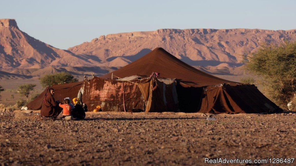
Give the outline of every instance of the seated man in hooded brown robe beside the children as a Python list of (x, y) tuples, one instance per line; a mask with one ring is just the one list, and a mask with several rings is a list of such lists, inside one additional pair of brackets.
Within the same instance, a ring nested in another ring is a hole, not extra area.
[(59, 102), (54, 100), (54, 89), (49, 88), (44, 96), (41, 116), (57, 118), (62, 110), (59, 108)]

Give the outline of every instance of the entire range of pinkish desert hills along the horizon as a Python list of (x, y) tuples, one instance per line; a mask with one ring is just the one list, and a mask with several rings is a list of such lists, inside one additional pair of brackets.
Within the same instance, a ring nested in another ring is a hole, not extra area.
[(244, 52), (255, 51), (264, 42), (296, 41), (296, 30), (160, 29), (103, 35), (61, 50), (22, 32), (14, 19), (0, 19), (0, 36), (2, 78), (26, 78), (59, 71), (75, 75), (94, 72), (100, 76), (157, 47), (202, 71), (243, 75), (241, 55)]

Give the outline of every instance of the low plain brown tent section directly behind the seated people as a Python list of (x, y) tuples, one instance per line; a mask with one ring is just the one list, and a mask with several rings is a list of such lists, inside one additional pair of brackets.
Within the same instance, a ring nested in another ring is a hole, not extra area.
[[(66, 97), (73, 99), (77, 97), (78, 91), (81, 88), (83, 82), (74, 82), (69, 84), (59, 84), (53, 85), (54, 89), (54, 99), (62, 101)], [(48, 88), (46, 88), (39, 96), (36, 97), (33, 101), (27, 104), (29, 110), (40, 110), (42, 107), (42, 102)]]

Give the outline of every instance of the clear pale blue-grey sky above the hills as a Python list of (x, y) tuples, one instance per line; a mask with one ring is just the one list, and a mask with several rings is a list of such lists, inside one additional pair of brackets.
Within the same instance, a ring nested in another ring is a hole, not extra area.
[(14, 18), (30, 36), (67, 49), (121, 32), (163, 28), (296, 29), (293, 0), (0, 0), (1, 18)]

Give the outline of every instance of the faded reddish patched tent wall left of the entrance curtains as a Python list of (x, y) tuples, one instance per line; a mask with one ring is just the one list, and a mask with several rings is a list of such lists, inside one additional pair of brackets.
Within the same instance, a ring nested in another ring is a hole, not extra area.
[(100, 106), (101, 111), (144, 110), (144, 98), (137, 84), (95, 77), (84, 81), (83, 88), (81, 101), (87, 105), (88, 111), (93, 111), (96, 106)]

